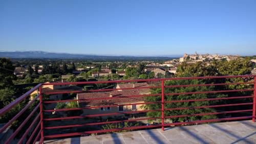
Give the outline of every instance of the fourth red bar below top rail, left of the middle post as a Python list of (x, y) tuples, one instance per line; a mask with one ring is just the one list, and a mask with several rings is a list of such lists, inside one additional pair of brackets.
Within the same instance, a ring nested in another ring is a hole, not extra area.
[(74, 117), (62, 117), (62, 118), (48, 118), (44, 119), (45, 121), (55, 121), (55, 120), (67, 120), (67, 119), (80, 119), (80, 118), (90, 118), (90, 117), (100, 117), (100, 116), (111, 116), (111, 115), (119, 115), (119, 114), (131, 114), (131, 113), (140, 113), (140, 112), (148, 112), (148, 111), (160, 111), (161, 109), (156, 110), (139, 110), (139, 111), (124, 111), (124, 112), (112, 112), (112, 113), (104, 113), (104, 114), (91, 114), (87, 116), (74, 116)]

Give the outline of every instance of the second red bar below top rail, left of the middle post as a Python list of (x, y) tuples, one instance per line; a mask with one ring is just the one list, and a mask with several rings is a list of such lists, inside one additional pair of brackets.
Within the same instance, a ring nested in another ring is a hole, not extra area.
[(153, 96), (160, 96), (160, 95), (161, 94), (148, 94), (148, 95), (137, 95), (137, 96), (118, 96), (118, 97), (106, 97), (106, 98), (79, 99), (79, 100), (57, 100), (57, 101), (45, 101), (44, 103), (71, 102), (71, 101), (84, 101), (84, 100), (118, 99), (118, 98), (134, 98), (134, 97), (153, 97)]

